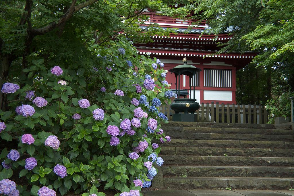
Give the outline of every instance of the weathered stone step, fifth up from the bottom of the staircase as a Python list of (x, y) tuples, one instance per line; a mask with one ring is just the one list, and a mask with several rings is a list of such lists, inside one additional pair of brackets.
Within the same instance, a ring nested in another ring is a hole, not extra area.
[(171, 142), (165, 142), (161, 146), (294, 149), (294, 142), (172, 139)]

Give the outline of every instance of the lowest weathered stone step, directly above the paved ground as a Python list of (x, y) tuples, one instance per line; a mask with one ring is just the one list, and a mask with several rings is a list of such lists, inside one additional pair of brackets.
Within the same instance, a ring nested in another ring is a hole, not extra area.
[(271, 189), (288, 190), (293, 187), (293, 178), (267, 177), (167, 177), (154, 178), (152, 188), (166, 189)]

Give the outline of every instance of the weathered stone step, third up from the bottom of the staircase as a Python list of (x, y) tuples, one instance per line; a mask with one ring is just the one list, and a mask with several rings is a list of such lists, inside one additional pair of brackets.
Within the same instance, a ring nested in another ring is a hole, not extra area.
[(218, 157), (161, 155), (164, 165), (293, 166), (290, 157)]

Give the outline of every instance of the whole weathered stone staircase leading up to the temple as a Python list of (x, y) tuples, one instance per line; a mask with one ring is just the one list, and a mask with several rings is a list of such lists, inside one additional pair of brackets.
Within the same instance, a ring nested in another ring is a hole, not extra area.
[(294, 188), (291, 125), (170, 122), (155, 189)]

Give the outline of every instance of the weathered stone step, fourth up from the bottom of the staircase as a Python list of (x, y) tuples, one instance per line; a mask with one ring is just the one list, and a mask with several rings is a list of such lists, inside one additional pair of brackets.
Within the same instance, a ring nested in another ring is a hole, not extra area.
[(293, 149), (271, 148), (219, 148), (219, 147), (167, 147), (162, 146), (160, 155), (194, 156), (251, 156), (251, 157), (293, 157)]

